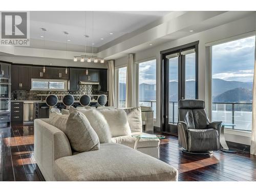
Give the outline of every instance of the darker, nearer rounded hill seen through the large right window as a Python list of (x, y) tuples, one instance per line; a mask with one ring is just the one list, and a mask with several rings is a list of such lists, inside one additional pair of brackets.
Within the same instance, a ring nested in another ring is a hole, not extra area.
[(252, 101), (252, 90), (245, 88), (236, 88), (228, 90), (216, 97), (213, 102), (251, 102)]

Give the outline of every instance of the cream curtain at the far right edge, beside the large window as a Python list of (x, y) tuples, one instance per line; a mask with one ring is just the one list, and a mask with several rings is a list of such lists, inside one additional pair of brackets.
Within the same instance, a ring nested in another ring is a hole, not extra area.
[(250, 153), (256, 155), (256, 38), (255, 38), (255, 53), (254, 53), (254, 75), (252, 89), (252, 127), (251, 127), (251, 148)]

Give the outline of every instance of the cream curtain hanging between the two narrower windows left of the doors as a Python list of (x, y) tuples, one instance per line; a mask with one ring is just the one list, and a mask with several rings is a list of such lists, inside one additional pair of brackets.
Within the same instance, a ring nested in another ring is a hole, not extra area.
[(129, 54), (126, 70), (126, 108), (133, 108), (135, 105), (134, 58), (133, 54)]

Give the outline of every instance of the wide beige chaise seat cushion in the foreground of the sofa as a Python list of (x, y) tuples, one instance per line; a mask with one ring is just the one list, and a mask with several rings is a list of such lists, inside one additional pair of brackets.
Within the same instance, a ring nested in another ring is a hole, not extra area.
[(103, 143), (98, 151), (55, 160), (57, 181), (177, 181), (176, 168), (133, 148)]

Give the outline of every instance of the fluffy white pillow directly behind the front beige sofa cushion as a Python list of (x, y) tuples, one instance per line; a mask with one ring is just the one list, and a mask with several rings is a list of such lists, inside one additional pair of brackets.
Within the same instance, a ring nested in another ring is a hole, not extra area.
[(99, 137), (100, 143), (110, 143), (111, 133), (105, 117), (97, 110), (78, 110), (87, 117), (94, 131)]

